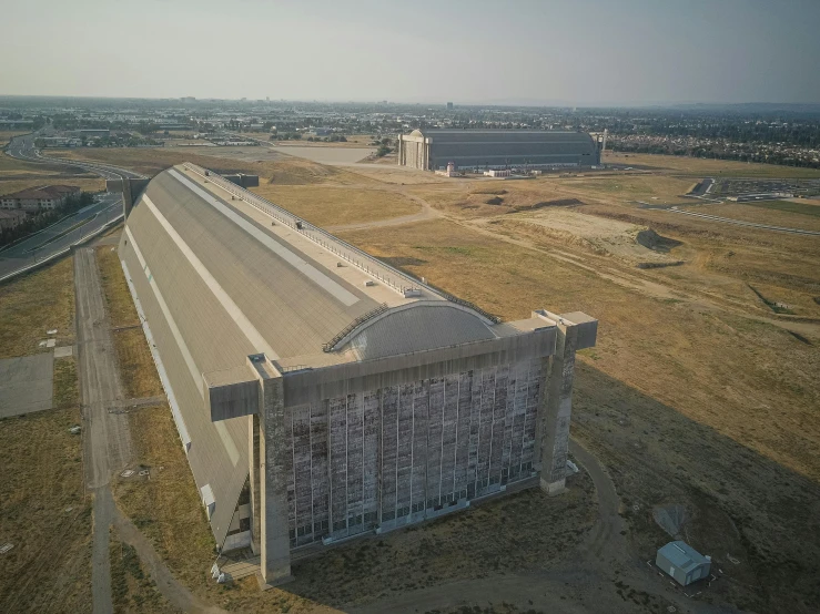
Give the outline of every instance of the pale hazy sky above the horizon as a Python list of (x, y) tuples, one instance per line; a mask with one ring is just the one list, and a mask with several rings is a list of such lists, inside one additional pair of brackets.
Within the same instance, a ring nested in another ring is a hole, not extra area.
[(820, 102), (820, 0), (8, 0), (0, 94)]

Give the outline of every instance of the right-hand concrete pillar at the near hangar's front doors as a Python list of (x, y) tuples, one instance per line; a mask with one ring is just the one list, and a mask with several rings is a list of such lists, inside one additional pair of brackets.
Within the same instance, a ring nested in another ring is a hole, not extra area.
[(538, 423), (540, 487), (547, 494), (557, 494), (565, 488), (575, 350), (578, 341), (577, 326), (560, 323), (557, 328), (555, 354), (548, 359)]

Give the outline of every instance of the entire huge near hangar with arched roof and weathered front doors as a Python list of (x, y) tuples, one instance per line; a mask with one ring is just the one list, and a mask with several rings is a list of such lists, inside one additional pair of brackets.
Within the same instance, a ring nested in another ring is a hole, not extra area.
[(500, 323), (193, 164), (119, 254), (216, 543), (265, 582), (294, 549), (563, 490), (589, 316)]

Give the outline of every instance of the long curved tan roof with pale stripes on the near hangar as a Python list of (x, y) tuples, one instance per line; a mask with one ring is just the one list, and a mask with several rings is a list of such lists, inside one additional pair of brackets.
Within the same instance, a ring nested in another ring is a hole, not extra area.
[[(194, 479), (216, 501), (245, 483), (247, 421), (211, 421), (203, 373), (230, 379), (261, 352), (286, 372), (516, 334), (190, 164), (149, 183), (120, 258)], [(232, 514), (215, 505), (219, 543)]]

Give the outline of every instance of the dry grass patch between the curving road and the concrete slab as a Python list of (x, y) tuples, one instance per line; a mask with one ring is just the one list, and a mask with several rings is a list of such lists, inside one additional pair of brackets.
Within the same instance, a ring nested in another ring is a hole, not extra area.
[(74, 263), (63, 258), (0, 285), (0, 358), (41, 351), (47, 330), (57, 328), (58, 346), (74, 342)]

